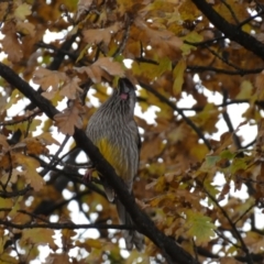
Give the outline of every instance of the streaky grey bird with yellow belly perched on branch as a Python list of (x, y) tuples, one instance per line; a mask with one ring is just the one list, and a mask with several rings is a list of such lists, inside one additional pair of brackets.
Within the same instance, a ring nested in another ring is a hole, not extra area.
[[(141, 138), (134, 120), (136, 96), (135, 87), (128, 78), (120, 78), (117, 89), (90, 117), (86, 134), (99, 148), (103, 157), (122, 177), (130, 194), (138, 173), (140, 161)], [(88, 177), (95, 168), (88, 169)], [(110, 202), (116, 202), (119, 222), (133, 226), (133, 221), (114, 190), (108, 185), (105, 175), (99, 175), (105, 193)], [(123, 230), (127, 250), (135, 245), (138, 251), (144, 249), (144, 237), (136, 230)]]

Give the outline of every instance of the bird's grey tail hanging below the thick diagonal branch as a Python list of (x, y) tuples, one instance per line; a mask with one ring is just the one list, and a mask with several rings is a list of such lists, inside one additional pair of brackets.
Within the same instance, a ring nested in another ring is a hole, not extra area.
[[(122, 224), (133, 226), (133, 221), (130, 215), (127, 212), (124, 206), (117, 199), (117, 209), (119, 215), (119, 221)], [(138, 251), (143, 251), (144, 249), (144, 237), (139, 233), (136, 230), (123, 230), (122, 231), (127, 250), (133, 250), (133, 244)]]

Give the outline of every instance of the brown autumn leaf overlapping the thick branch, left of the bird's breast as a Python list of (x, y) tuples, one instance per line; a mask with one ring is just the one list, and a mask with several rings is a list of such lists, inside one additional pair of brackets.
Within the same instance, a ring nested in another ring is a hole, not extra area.
[(78, 129), (82, 128), (81, 114), (85, 113), (82, 106), (77, 101), (73, 101), (72, 106), (64, 112), (54, 116), (54, 120), (58, 130), (68, 135), (73, 135), (75, 127)]

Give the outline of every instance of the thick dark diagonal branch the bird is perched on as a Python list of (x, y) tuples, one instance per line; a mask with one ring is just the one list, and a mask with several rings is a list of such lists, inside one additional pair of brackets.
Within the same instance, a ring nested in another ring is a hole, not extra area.
[[(0, 63), (0, 75), (12, 86), (16, 87), (24, 96), (26, 96), (35, 106), (37, 106), (46, 116), (51, 119), (58, 113), (51, 102), (37, 94), (28, 82), (21, 79), (12, 69)], [(85, 132), (80, 129), (75, 129), (73, 138), (76, 141), (77, 146), (82, 148), (86, 154), (95, 164), (97, 170), (106, 175), (108, 184), (114, 189), (120, 201), (125, 206), (130, 212), (136, 229), (152, 240), (164, 253), (169, 256), (167, 260), (169, 263), (190, 264), (197, 263), (193, 256), (184, 251), (174, 240), (166, 237), (161, 232), (153, 223), (153, 221), (139, 209), (134, 198), (129, 194), (123, 180), (117, 176), (114, 169), (103, 158), (98, 148), (86, 136)]]

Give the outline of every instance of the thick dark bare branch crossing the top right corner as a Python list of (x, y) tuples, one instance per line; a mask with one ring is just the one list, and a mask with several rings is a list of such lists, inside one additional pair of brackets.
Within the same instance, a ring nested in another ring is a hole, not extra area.
[(208, 20), (221, 31), (228, 38), (242, 45), (256, 56), (264, 59), (264, 45), (252, 35), (242, 31), (238, 25), (230, 24), (205, 0), (193, 0), (196, 7), (208, 18)]

